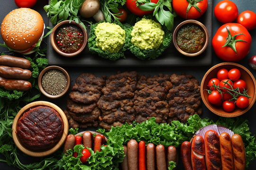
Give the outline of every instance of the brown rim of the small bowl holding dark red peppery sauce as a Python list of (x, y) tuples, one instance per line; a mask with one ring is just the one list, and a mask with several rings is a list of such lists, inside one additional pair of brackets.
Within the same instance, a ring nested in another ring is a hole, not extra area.
[[(73, 53), (65, 53), (63, 51), (61, 51), (58, 46), (57, 46), (57, 42), (55, 41), (55, 36), (57, 34), (57, 31), (58, 31), (58, 28), (60, 26), (63, 26), (63, 25), (75, 25), (75, 26), (78, 26), (82, 29), (82, 33), (84, 34), (84, 41), (83, 41), (83, 44), (82, 44), (82, 47), (76, 51), (76, 52), (73, 52)], [(52, 30), (52, 33), (51, 33), (51, 44), (54, 48), (54, 50), (59, 53), (60, 55), (64, 56), (64, 57), (75, 57), (77, 56), (78, 54), (80, 54), (84, 48), (86, 47), (87, 45), (87, 40), (88, 40), (88, 35), (87, 35), (87, 32), (86, 30), (83, 29), (83, 27), (80, 25), (80, 24), (76, 24), (74, 21), (69, 21), (69, 20), (65, 20), (65, 21), (62, 21), (60, 22), (59, 24), (57, 24), (53, 30)]]

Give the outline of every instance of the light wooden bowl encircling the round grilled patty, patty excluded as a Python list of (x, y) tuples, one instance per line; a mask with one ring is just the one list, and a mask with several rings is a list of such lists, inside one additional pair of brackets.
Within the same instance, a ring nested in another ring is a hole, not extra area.
[[(23, 115), (24, 112), (26, 112), (27, 110), (29, 110), (31, 108), (37, 107), (37, 106), (48, 106), (50, 108), (53, 108), (60, 114), (60, 117), (63, 120), (64, 128), (63, 128), (62, 136), (61, 136), (59, 142), (53, 148), (48, 149), (48, 150), (33, 151), (33, 150), (27, 149), (20, 143), (20, 141), (18, 139), (18, 135), (16, 133), (18, 119)], [(26, 106), (24, 106), (21, 110), (18, 111), (18, 114), (16, 115), (16, 117), (13, 121), (13, 124), (12, 124), (12, 137), (13, 137), (14, 143), (17, 145), (18, 149), (21, 150), (23, 153), (26, 153), (27, 155), (34, 156), (34, 157), (43, 157), (43, 156), (47, 156), (49, 154), (54, 153), (62, 146), (62, 144), (64, 144), (65, 139), (68, 134), (68, 129), (69, 129), (68, 128), (68, 120), (67, 120), (66, 115), (64, 114), (63, 110), (61, 110), (58, 106), (56, 106), (55, 104), (53, 104), (51, 102), (38, 101), (38, 102), (29, 103)]]

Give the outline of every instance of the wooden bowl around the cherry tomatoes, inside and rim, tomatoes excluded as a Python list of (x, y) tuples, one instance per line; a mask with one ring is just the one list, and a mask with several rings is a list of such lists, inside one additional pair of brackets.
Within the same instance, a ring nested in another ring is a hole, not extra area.
[[(232, 68), (237, 68), (241, 72), (240, 79), (243, 79), (246, 82), (247, 90), (248, 90), (247, 94), (251, 97), (249, 98), (249, 106), (247, 108), (239, 109), (238, 107), (236, 107), (234, 111), (226, 112), (222, 109), (222, 107), (217, 107), (208, 101), (209, 94), (206, 89), (209, 89), (209, 88), (207, 84), (211, 78), (217, 78), (217, 72), (221, 68), (226, 68), (227, 70), (230, 70)], [(252, 75), (252, 73), (247, 68), (245, 68), (240, 64), (232, 63), (232, 62), (219, 63), (213, 66), (212, 68), (210, 68), (203, 76), (201, 81), (201, 98), (204, 104), (206, 105), (206, 107), (213, 113), (222, 117), (237, 117), (246, 113), (253, 106), (256, 100), (256, 80)]]

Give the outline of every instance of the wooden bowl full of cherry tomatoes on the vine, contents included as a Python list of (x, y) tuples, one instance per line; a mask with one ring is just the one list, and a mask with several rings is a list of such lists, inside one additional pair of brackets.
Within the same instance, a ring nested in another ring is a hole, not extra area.
[(255, 103), (255, 77), (240, 64), (219, 63), (203, 76), (201, 98), (206, 107), (219, 116), (240, 116)]

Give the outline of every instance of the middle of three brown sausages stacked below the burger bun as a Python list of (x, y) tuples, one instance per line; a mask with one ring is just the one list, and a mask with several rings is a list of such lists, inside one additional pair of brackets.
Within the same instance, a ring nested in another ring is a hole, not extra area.
[(32, 76), (32, 73), (28, 69), (0, 66), (0, 76), (5, 78), (27, 80)]

